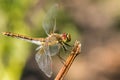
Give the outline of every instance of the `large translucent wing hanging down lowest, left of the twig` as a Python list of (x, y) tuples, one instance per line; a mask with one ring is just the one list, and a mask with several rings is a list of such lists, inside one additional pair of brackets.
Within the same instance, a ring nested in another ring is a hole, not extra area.
[(37, 54), (35, 55), (35, 60), (39, 68), (48, 76), (52, 75), (52, 60), (49, 52), (49, 47), (41, 46)]

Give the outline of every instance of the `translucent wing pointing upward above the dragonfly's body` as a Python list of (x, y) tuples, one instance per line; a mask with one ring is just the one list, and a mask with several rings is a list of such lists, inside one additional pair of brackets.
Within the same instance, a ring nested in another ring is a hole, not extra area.
[(57, 16), (58, 4), (53, 5), (48, 11), (43, 21), (43, 28), (47, 35), (54, 33), (56, 28), (56, 16)]

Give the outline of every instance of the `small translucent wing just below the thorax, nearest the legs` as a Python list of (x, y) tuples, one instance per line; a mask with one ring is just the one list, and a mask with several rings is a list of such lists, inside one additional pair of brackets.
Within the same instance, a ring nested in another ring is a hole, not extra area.
[(49, 50), (50, 50), (50, 55), (51, 55), (51, 56), (56, 55), (57, 53), (59, 53), (60, 44), (57, 43), (57, 44), (54, 44), (54, 45), (50, 45), (50, 46), (49, 46)]

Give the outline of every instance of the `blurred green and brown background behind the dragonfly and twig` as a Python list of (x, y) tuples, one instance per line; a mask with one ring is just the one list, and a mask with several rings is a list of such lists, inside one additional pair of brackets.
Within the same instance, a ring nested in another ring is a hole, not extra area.
[[(57, 33), (70, 33), (82, 52), (65, 80), (120, 80), (119, 0), (0, 0), (0, 32), (46, 37), (42, 21), (55, 3)], [(0, 34), (0, 80), (53, 80), (62, 66), (53, 59), (47, 78), (34, 60), (36, 45)]]

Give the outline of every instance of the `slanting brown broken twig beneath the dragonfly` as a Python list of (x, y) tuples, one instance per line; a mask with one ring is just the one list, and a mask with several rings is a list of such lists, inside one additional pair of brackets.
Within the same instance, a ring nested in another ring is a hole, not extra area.
[(76, 41), (70, 55), (68, 56), (63, 67), (60, 69), (59, 73), (57, 74), (55, 80), (63, 80), (64, 76), (67, 74), (70, 66), (72, 65), (74, 59), (78, 54), (80, 54), (80, 50), (81, 44), (79, 43), (79, 41)]

